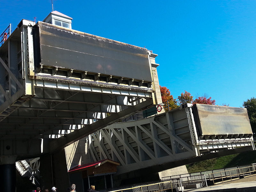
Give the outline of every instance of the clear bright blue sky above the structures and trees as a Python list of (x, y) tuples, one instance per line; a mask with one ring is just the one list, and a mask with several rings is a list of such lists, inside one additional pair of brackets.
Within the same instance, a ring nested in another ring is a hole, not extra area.
[[(159, 3), (161, 2), (161, 3)], [(21, 19), (44, 20), (51, 0), (0, 0), (0, 31)], [(53, 0), (82, 32), (158, 54), (161, 86), (174, 98), (207, 93), (241, 107), (256, 97), (256, 1)]]

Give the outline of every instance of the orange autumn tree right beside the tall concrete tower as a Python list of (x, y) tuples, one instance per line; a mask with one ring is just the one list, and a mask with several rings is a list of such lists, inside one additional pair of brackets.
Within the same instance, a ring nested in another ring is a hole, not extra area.
[[(178, 108), (177, 101), (176, 99), (173, 99), (173, 96), (171, 95), (171, 92), (169, 91), (169, 89), (167, 89), (164, 86), (163, 87), (160, 86), (160, 92), (161, 92), (162, 102), (165, 103), (164, 104), (165, 111), (168, 111), (168, 106), (169, 106), (169, 109)], [(167, 101), (168, 101), (168, 104), (167, 104)]]

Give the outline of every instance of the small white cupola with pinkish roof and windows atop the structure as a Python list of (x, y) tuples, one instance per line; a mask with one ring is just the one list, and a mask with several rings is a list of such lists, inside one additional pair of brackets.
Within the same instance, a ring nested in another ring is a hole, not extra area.
[(50, 12), (43, 22), (71, 29), (71, 20), (71, 17), (68, 17), (67, 15), (64, 15), (58, 11), (53, 11)]

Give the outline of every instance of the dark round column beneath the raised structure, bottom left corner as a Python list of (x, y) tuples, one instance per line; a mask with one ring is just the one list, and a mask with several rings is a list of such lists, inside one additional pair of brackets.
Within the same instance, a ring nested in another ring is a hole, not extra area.
[(0, 157), (0, 184), (2, 190), (15, 192), (16, 188), (16, 156)]

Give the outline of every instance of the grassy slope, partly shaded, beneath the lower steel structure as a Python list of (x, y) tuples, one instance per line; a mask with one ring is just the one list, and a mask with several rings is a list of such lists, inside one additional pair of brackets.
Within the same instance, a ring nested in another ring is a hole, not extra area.
[(189, 173), (192, 173), (212, 169), (234, 167), (237, 165), (245, 165), (251, 163), (256, 163), (256, 151), (237, 153), (233, 155), (204, 160), (193, 164), (188, 164), (187, 169)]

